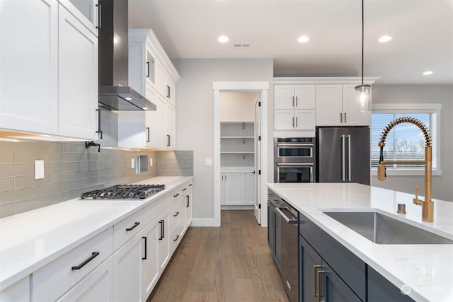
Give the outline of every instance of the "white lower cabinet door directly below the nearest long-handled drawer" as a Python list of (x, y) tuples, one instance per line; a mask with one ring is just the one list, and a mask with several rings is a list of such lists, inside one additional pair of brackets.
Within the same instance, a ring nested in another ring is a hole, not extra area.
[(57, 301), (113, 301), (113, 257), (108, 257), (107, 260), (96, 267), (93, 272), (84, 277), (84, 279)]

